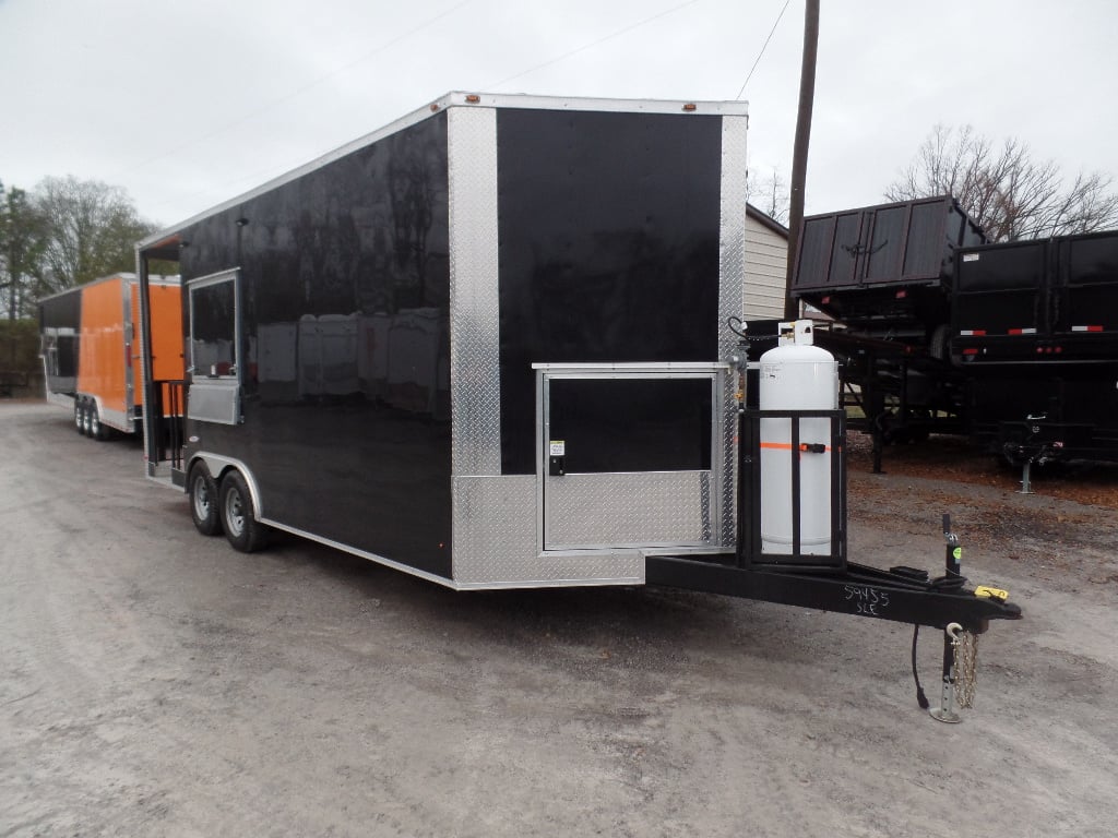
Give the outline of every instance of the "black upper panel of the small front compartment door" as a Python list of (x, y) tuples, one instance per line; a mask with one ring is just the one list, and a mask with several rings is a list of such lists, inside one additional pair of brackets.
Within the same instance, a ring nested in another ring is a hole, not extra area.
[(710, 379), (552, 379), (550, 418), (567, 474), (710, 468)]

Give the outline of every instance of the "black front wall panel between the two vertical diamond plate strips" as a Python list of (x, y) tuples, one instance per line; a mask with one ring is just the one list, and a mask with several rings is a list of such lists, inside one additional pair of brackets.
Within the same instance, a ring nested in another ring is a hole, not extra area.
[[(532, 363), (718, 360), (722, 120), (510, 108), (496, 125), (502, 473), (534, 474)], [(665, 410), (654, 388), (585, 396), (595, 421), (625, 417), (631, 440), (709, 450), (709, 431), (703, 440), (695, 417)], [(615, 454), (625, 461), (598, 468), (662, 467)]]

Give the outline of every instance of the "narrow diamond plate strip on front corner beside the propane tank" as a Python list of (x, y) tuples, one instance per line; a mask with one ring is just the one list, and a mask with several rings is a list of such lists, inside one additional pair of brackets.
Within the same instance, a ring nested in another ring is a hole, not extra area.
[[(737, 349), (737, 336), (724, 326), (730, 317), (743, 312), (746, 278), (746, 116), (722, 117), (722, 197), (719, 231), (719, 358), (730, 358)], [(733, 387), (722, 388), (724, 407), (722, 431), (722, 546), (737, 542), (737, 401)]]

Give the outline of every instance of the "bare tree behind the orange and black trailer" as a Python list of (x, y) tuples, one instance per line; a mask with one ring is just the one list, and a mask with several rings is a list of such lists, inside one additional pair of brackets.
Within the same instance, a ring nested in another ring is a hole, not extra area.
[(135, 269), (135, 242), (155, 229), (123, 189), (101, 181), (47, 178), (35, 203), (47, 226), (45, 292)]

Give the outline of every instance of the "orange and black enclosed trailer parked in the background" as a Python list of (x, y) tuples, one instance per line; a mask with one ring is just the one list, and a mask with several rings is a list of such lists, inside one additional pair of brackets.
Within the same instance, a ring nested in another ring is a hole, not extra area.
[[(135, 434), (143, 418), (140, 292), (134, 274), (113, 274), (39, 301), (47, 401), (74, 412), (78, 432)], [(178, 277), (153, 277), (153, 362), (161, 380), (183, 377)]]

